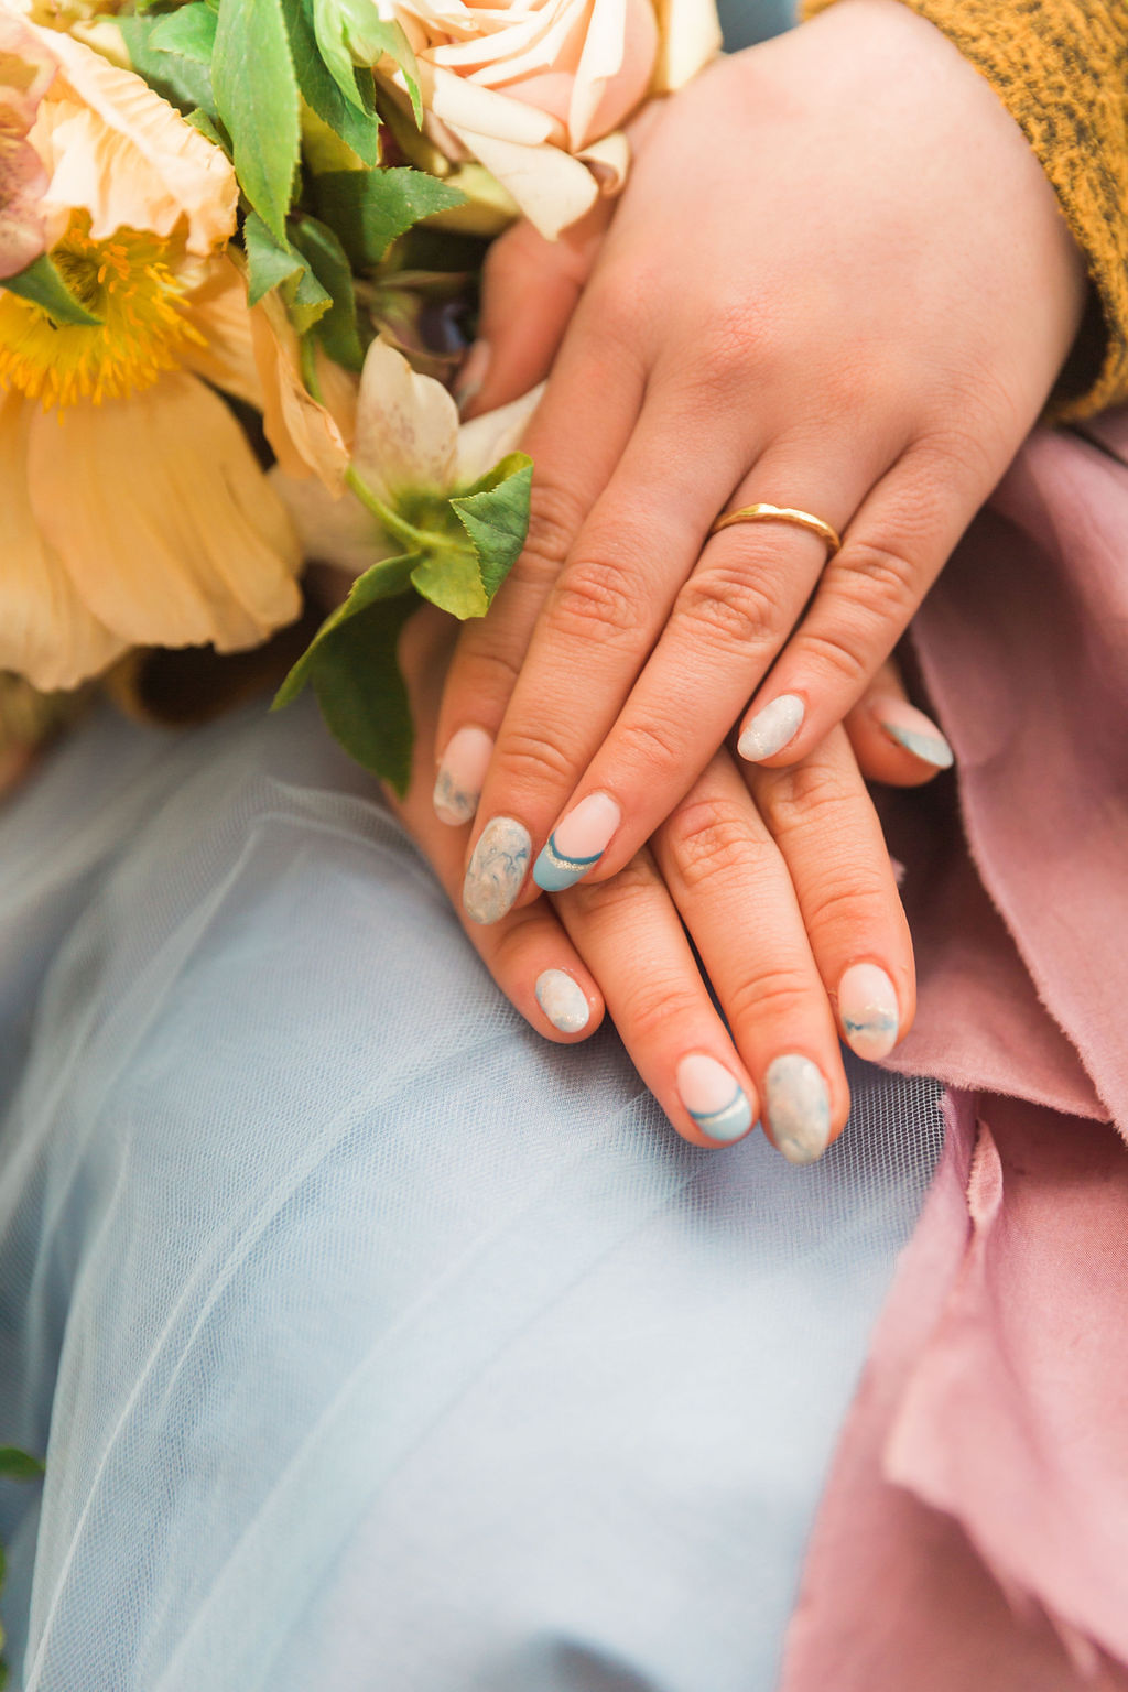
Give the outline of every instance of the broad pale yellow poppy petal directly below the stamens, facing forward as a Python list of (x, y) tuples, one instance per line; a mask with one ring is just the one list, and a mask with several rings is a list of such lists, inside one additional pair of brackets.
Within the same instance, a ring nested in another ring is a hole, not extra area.
[(30, 423), (27, 484), (79, 597), (129, 645), (254, 646), (301, 552), (238, 423), (194, 376)]

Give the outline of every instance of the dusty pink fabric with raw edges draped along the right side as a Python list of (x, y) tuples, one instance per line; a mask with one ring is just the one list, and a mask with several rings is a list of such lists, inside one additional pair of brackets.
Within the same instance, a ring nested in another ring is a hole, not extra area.
[[(1038, 433), (917, 646), (959, 770), (891, 817), (949, 1140), (783, 1692), (1128, 1687), (1128, 413)], [(1120, 1132), (1118, 1132), (1120, 1130)]]

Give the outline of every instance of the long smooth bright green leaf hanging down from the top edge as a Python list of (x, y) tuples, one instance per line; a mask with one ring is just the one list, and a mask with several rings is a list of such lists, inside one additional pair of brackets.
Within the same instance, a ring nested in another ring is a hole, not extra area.
[(240, 186), (271, 233), (286, 240), (301, 117), (282, 0), (222, 0), (211, 81)]

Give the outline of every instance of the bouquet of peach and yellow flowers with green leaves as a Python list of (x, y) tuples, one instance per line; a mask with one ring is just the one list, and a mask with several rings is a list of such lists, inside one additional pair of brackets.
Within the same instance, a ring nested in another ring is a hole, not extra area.
[[(0, 0), (0, 672), (260, 645), (402, 787), (396, 641), (521, 552), (531, 399), (460, 425), (487, 242), (614, 193), (712, 0)], [(533, 398), (533, 396), (531, 396)]]

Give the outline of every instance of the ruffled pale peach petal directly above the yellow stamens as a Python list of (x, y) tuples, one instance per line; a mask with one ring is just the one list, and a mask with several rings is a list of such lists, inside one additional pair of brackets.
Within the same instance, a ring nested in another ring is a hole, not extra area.
[(223, 152), (140, 76), (69, 36), (36, 34), (47, 39), (74, 95), (42, 105), (32, 130), (52, 173), (47, 205), (88, 210), (95, 240), (122, 227), (169, 235), (184, 218), (189, 252), (222, 245), (238, 206)]

